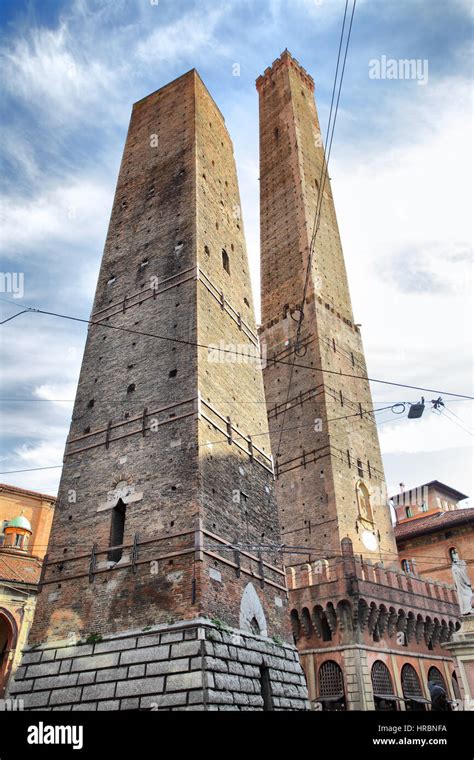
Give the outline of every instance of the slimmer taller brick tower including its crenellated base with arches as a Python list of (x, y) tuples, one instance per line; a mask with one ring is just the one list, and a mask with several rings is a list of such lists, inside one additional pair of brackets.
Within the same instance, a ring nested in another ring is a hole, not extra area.
[(331, 184), (321, 181), (314, 82), (285, 51), (257, 89), (264, 383), (282, 538), (293, 549), (291, 619), (310, 697), (326, 710), (424, 709), (429, 680), (456, 695), (443, 649), (456, 626), (454, 593), (395, 570), (362, 340)]

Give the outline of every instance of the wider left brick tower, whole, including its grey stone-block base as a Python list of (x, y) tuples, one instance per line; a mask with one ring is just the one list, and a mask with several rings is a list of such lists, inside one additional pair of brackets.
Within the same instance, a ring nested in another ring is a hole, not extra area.
[(12, 693), (305, 709), (232, 143), (194, 70), (134, 105), (91, 319)]

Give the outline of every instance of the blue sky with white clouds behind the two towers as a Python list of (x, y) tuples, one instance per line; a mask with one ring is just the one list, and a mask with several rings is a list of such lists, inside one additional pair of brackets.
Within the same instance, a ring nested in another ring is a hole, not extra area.
[[(234, 141), (258, 299), (255, 79), (288, 48), (316, 80), (324, 130), (343, 9), (343, 0), (3, 0), (1, 270), (24, 273), (24, 293), (2, 285), (15, 306), (0, 301), (1, 318), (22, 304), (89, 316), (131, 104), (193, 67)], [(470, 0), (358, 0), (330, 164), (370, 375), (468, 395), (471, 24)], [(371, 78), (382, 56), (417, 59), (423, 81)], [(0, 481), (55, 493), (59, 468), (11, 471), (61, 464), (85, 329), (25, 314), (1, 330)], [(372, 389), (376, 406), (419, 396)], [(443, 415), (378, 415), (390, 491), (439, 479), (472, 493), (472, 404), (443, 398)]]

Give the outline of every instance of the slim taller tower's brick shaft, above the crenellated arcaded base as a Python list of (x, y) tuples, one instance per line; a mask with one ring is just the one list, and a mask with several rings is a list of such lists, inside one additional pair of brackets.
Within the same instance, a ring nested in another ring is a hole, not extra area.
[[(349, 537), (356, 552), (393, 562), (397, 550), (369, 384), (350, 377), (367, 371), (329, 178), (323, 187), (314, 82), (285, 51), (259, 77), (257, 89), (261, 339), (269, 359), (264, 382), (282, 533), (291, 546), (315, 547), (315, 556), (340, 552)], [(293, 361), (314, 370), (296, 366), (292, 372)]]

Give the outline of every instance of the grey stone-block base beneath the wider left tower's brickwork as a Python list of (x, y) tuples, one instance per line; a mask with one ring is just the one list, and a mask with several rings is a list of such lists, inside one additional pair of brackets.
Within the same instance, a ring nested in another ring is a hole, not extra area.
[(263, 680), (274, 710), (309, 709), (295, 647), (199, 618), (29, 649), (9, 696), (25, 710), (263, 710)]

